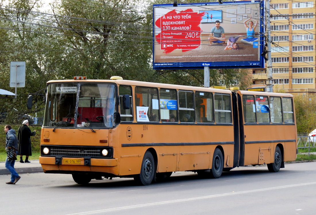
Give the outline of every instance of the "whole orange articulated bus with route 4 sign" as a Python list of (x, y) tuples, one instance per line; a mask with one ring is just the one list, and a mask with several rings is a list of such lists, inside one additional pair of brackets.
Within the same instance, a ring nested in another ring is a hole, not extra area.
[(79, 184), (218, 178), (261, 164), (277, 172), (296, 159), (296, 137), (290, 94), (76, 77), (47, 82), (40, 164)]

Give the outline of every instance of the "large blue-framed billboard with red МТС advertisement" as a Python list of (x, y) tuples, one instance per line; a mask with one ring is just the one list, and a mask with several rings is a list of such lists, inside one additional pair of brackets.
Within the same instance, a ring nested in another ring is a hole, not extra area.
[(264, 68), (263, 4), (153, 5), (153, 68)]

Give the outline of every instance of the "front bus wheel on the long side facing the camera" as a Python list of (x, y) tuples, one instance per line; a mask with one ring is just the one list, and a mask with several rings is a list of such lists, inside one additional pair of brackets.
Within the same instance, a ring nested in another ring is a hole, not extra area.
[(134, 177), (134, 180), (139, 185), (149, 185), (155, 176), (155, 160), (153, 155), (146, 151), (142, 161), (140, 173)]

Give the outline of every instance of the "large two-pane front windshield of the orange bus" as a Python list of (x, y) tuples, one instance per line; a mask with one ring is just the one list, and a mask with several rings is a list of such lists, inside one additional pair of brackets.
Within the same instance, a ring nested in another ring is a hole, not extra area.
[(49, 84), (43, 126), (112, 128), (115, 89), (106, 83)]

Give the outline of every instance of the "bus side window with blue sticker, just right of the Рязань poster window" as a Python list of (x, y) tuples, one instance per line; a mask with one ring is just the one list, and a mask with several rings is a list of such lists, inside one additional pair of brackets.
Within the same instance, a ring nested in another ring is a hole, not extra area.
[(177, 90), (160, 89), (159, 105), (161, 122), (178, 122)]

